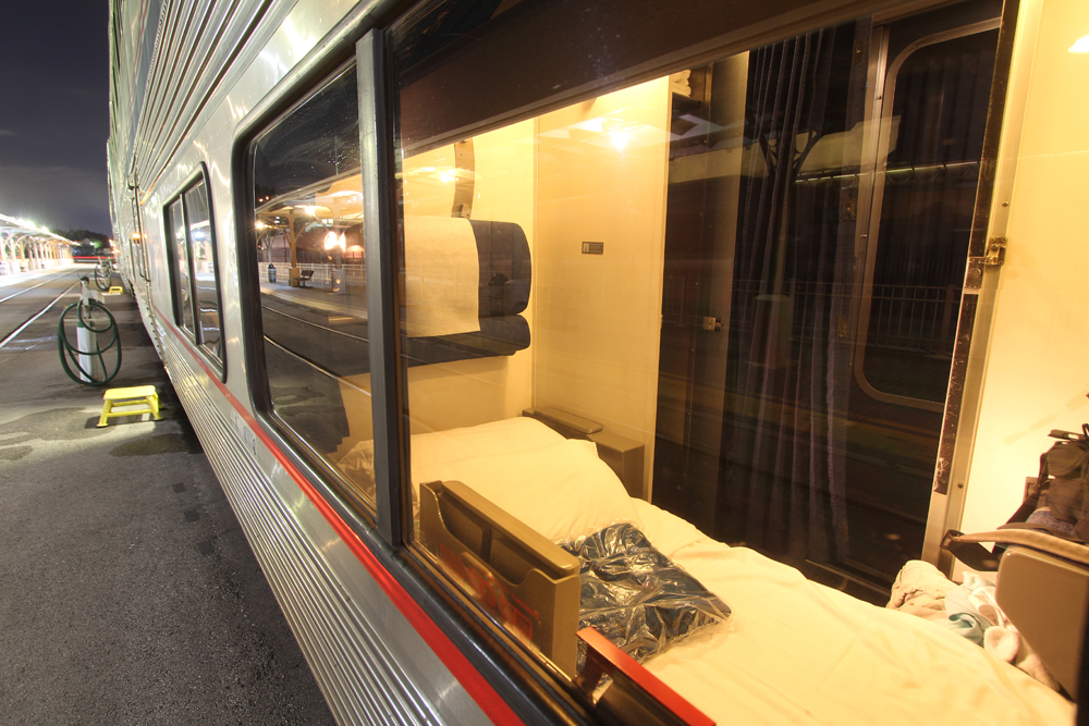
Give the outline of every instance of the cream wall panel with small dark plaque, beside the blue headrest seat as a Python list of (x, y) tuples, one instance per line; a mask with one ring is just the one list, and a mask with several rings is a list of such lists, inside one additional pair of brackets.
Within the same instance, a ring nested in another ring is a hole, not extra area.
[[(653, 463), (669, 78), (546, 114), (538, 136), (535, 404), (600, 421)], [(584, 255), (583, 242), (604, 243)]]

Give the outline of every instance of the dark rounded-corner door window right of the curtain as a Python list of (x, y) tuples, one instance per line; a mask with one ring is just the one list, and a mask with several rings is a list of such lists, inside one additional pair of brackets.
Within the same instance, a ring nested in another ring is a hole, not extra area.
[(885, 89), (859, 382), (934, 410), (949, 385), (996, 45), (989, 30), (905, 51)]

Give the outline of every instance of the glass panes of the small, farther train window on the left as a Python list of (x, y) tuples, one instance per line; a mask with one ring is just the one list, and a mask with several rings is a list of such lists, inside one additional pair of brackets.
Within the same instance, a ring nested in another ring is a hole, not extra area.
[(174, 322), (218, 366), (223, 361), (219, 269), (204, 174), (166, 209)]

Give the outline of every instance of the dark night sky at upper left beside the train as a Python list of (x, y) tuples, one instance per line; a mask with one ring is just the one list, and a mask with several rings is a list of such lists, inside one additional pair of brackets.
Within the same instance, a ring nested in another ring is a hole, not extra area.
[(107, 0), (4, 5), (0, 213), (112, 234)]

